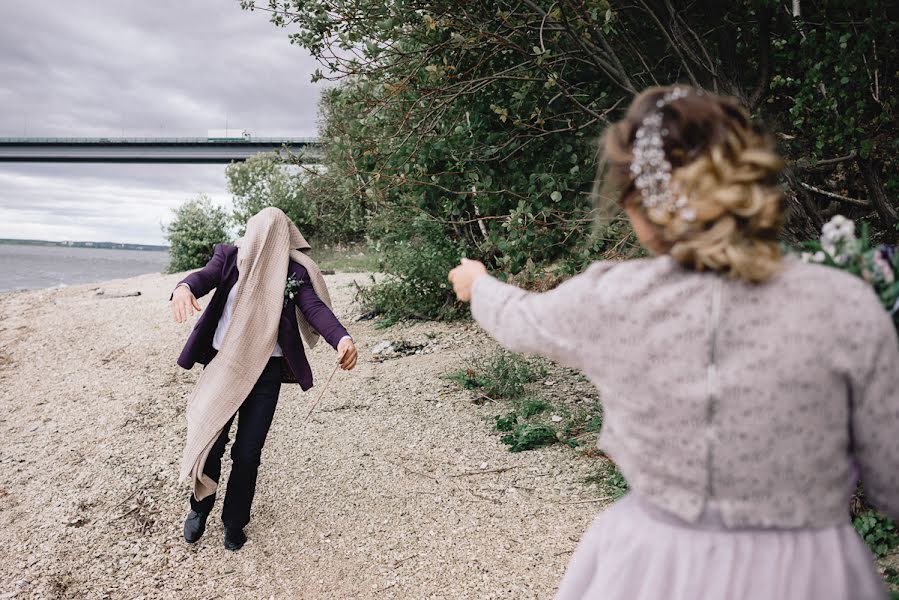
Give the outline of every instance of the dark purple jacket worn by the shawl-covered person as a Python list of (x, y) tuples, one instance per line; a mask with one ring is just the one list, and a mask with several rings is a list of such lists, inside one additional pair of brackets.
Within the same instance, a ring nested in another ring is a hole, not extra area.
[[(305, 391), (312, 387), (312, 369), (309, 367), (309, 361), (306, 360), (306, 353), (303, 350), (294, 303), (302, 311), (309, 325), (319, 332), (335, 350), (340, 340), (349, 334), (331, 309), (312, 289), (312, 284), (308, 283), (309, 278), (305, 267), (290, 261), (287, 273), (288, 275), (293, 273), (297, 279), (307, 283), (300, 286), (294, 299), (288, 302), (281, 312), (278, 344), (284, 352), (281, 369), (282, 380), (285, 383), (299, 383)], [(225, 310), (228, 293), (237, 283), (237, 275), (237, 247), (231, 244), (219, 244), (215, 247), (215, 253), (205, 267), (191, 273), (179, 282), (189, 285), (197, 298), (201, 298), (215, 289), (212, 300), (200, 315), (200, 319), (187, 339), (187, 344), (184, 345), (184, 350), (178, 357), (178, 364), (185, 369), (192, 368), (196, 363), (208, 364), (215, 356), (216, 351), (212, 347), (212, 338)]]

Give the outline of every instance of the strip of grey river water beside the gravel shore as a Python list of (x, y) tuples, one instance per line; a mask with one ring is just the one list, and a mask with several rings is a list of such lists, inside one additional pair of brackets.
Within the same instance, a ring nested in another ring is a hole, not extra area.
[(160, 273), (168, 252), (0, 244), (0, 292)]

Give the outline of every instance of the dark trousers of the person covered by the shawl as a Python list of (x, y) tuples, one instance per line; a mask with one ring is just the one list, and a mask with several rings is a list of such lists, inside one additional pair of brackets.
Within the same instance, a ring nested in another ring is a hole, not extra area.
[[(222, 522), (225, 527), (243, 528), (250, 522), (250, 507), (256, 493), (256, 474), (262, 458), (262, 446), (275, 416), (278, 394), (281, 391), (281, 359), (268, 361), (256, 385), (237, 411), (237, 434), (231, 446), (231, 476), (225, 492), (222, 507)], [(228, 433), (234, 417), (222, 429), (213, 444), (203, 467), (203, 473), (218, 482), (222, 473), (222, 455), (228, 443)], [(190, 496), (193, 510), (208, 513), (215, 504), (215, 494), (202, 500)]]

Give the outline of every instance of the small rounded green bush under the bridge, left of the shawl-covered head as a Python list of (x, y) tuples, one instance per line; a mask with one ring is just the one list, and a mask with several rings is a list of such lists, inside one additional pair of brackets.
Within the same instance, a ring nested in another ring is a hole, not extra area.
[(216, 244), (229, 240), (228, 214), (220, 206), (200, 195), (174, 210), (175, 218), (163, 226), (169, 242), (168, 273), (179, 273), (204, 266)]

